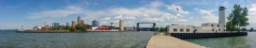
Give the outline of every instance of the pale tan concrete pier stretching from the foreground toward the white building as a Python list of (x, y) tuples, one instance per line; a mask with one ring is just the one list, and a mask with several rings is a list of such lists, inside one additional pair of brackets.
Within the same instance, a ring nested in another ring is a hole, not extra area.
[(146, 48), (207, 48), (202, 45), (196, 45), (185, 40), (180, 40), (171, 35), (158, 33), (151, 37)]

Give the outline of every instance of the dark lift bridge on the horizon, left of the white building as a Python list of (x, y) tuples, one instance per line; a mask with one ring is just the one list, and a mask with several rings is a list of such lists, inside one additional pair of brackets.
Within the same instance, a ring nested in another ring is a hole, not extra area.
[[(153, 24), (152, 28), (140, 28), (140, 24)], [(137, 31), (156, 31), (155, 23), (137, 23)]]

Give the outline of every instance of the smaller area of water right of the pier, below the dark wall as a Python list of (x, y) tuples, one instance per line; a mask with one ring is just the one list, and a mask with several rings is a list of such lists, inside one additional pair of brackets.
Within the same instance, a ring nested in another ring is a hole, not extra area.
[(205, 45), (208, 48), (256, 48), (256, 32), (248, 33), (247, 36), (191, 39), (188, 41)]

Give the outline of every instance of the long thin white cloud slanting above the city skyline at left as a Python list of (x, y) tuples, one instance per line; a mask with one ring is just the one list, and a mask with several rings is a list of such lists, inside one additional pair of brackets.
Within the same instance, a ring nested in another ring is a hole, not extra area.
[(82, 8), (67, 6), (67, 8), (55, 9), (55, 10), (44, 10), (39, 13), (29, 14), (29, 19), (42, 19), (42, 18), (63, 18), (74, 13), (82, 13)]

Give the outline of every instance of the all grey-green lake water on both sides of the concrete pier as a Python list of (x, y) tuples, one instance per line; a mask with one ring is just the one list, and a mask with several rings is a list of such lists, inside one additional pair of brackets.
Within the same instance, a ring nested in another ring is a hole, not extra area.
[[(0, 48), (143, 48), (153, 32), (15, 33), (0, 30)], [(256, 32), (247, 36), (190, 39), (208, 48), (256, 48)]]

